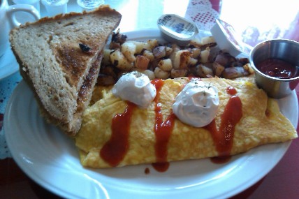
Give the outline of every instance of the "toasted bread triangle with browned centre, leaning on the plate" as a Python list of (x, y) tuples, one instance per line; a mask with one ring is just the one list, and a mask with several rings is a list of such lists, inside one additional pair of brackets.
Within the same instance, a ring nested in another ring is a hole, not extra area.
[(10, 31), (20, 73), (42, 115), (69, 134), (81, 126), (99, 75), (102, 52), (122, 15), (109, 6), (45, 17)]

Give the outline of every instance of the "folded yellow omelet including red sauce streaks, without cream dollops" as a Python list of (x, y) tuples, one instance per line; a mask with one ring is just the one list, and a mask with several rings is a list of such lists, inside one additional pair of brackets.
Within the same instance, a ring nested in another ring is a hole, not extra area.
[(112, 168), (232, 156), (297, 138), (277, 101), (256, 87), (253, 75), (202, 80), (217, 87), (219, 108), (211, 124), (201, 128), (182, 123), (172, 112), (189, 78), (160, 80), (159, 94), (147, 109), (115, 97), (112, 87), (96, 87), (75, 137), (82, 165)]

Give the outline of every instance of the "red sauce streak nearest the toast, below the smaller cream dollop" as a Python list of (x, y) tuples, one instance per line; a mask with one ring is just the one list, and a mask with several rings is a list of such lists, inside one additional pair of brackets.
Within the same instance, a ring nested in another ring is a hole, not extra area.
[(103, 145), (100, 156), (110, 166), (115, 167), (124, 159), (129, 149), (129, 132), (131, 117), (136, 105), (129, 101), (126, 102), (124, 113), (117, 114), (112, 119), (110, 140)]

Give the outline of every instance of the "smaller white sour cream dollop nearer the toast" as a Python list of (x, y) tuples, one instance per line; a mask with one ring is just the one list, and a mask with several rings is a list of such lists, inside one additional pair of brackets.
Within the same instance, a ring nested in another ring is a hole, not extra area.
[(156, 87), (147, 75), (133, 71), (122, 75), (112, 89), (112, 94), (122, 100), (147, 108), (156, 96)]

